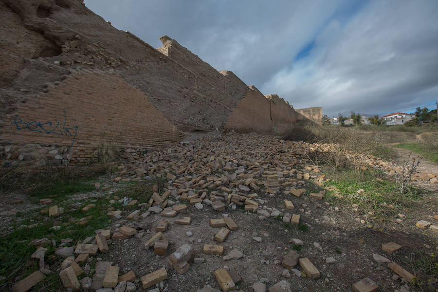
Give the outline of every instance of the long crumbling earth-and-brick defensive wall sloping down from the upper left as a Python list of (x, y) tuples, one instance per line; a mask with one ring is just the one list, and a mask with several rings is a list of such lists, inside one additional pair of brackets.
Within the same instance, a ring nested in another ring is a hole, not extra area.
[[(0, 166), (84, 164), (184, 132), (282, 134), (293, 108), (170, 37), (155, 49), (81, 0), (0, 0)], [(4, 170), (4, 169), (3, 169)]]

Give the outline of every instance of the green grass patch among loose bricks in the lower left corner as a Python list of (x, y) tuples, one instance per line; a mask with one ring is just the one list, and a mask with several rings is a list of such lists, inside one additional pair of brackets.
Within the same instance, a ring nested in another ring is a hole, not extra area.
[[(67, 187), (64, 195), (74, 193), (73, 190), (84, 191), (89, 189), (85, 184), (73, 184)], [(94, 187), (93, 187), (94, 189)], [(41, 193), (40, 193), (41, 194)], [(45, 193), (47, 194), (47, 193)], [(65, 196), (64, 196), (65, 197)], [(56, 199), (59, 196), (56, 197)], [(83, 241), (86, 237), (94, 236), (94, 231), (101, 228), (106, 228), (110, 224), (110, 218), (107, 216), (107, 208), (115, 207), (122, 209), (121, 204), (110, 204), (107, 198), (92, 198), (81, 201), (77, 204), (74, 201), (59, 201), (58, 206), (64, 208), (64, 213), (58, 218), (49, 218), (40, 214), (39, 210), (34, 210), (28, 213), (20, 214), (19, 217), (25, 218), (19, 223), (13, 225), (14, 229), (0, 237), (0, 275), (6, 277), (0, 284), (14, 282), (18, 276), (24, 278), (29, 274), (38, 270), (38, 261), (31, 259), (31, 255), (37, 250), (37, 247), (29, 243), (37, 238), (47, 238), (49, 242), (43, 247), (48, 248), (45, 255), (45, 261), (51, 268), (56, 267), (56, 264), (62, 261), (61, 258), (51, 256), (55, 253), (55, 248), (52, 245), (52, 240), (55, 240), (58, 246), (63, 238), (72, 238), (73, 242), (70, 246), (74, 246), (76, 242)], [(96, 206), (88, 211), (81, 211), (81, 209), (93, 203)], [(74, 208), (73, 208), (74, 206)], [(42, 207), (45, 209), (47, 206)], [(79, 224), (81, 219), (87, 220), (86, 224)], [(55, 220), (61, 221), (59, 230), (52, 229)], [(19, 228), (20, 225), (30, 225), (38, 223), (33, 228)], [(41, 283), (39, 283), (35, 291), (58, 291), (61, 287), (59, 275), (47, 276)]]

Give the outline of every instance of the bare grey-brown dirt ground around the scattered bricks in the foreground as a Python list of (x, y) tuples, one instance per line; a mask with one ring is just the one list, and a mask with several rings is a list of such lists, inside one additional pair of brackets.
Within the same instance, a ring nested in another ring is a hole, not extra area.
[[(208, 139), (211, 139), (212, 143), (217, 143), (217, 137), (208, 137)], [(187, 139), (187, 141), (194, 140)], [(396, 149), (396, 151), (402, 158), (409, 155), (404, 149)], [(424, 159), (421, 161), (419, 170), (438, 174), (438, 167)], [(310, 172), (310, 179), (319, 175)], [(102, 179), (111, 184), (112, 178)], [(117, 185), (114, 185), (115, 188), (110, 192), (94, 191), (88, 194), (76, 194), (74, 199), (86, 203), (90, 198), (99, 194), (111, 198), (113, 196), (111, 194), (117, 188)], [(323, 190), (323, 187), (314, 184), (311, 180), (301, 186), (312, 192)], [(438, 224), (438, 220), (433, 218), (433, 215), (438, 213), (438, 192), (436, 184), (422, 182), (420, 186), (426, 189), (427, 195), (414, 203), (412, 210), (403, 210), (405, 218), (389, 218), (385, 221), (375, 221), (367, 214), (355, 212), (351, 205), (345, 203), (316, 200), (307, 193), (301, 197), (295, 197), (289, 193), (286, 194), (282, 189), (276, 194), (269, 194), (262, 190), (257, 192), (259, 209), (270, 213), (278, 210), (281, 212), (279, 217), (265, 218), (256, 213), (244, 211), (240, 206), (237, 206), (235, 210), (227, 207), (223, 212), (218, 212), (203, 204), (203, 209), (197, 210), (188, 203), (188, 209), (174, 218), (164, 218), (160, 214), (152, 213), (144, 219), (132, 221), (123, 216), (121, 219), (111, 220), (111, 231), (126, 224), (136, 228), (138, 235), (128, 239), (109, 240), (110, 251), (106, 254), (99, 254), (94, 259), (98, 257), (97, 260), (114, 262), (114, 265), (120, 267), (120, 274), (133, 271), (137, 279), (136, 291), (152, 291), (153, 289), (158, 289), (154, 291), (198, 291), (205, 285), (211, 285), (220, 290), (213, 273), (224, 267), (234, 269), (240, 275), (242, 282), (236, 285), (237, 289), (247, 292), (253, 291), (253, 284), (257, 281), (265, 282), (268, 289), (281, 280), (287, 280), (291, 284), (291, 291), (347, 292), (352, 291), (352, 284), (365, 277), (375, 281), (380, 287), (379, 291), (436, 291), (438, 275), (425, 276), (423, 271), (425, 264), (419, 262), (421, 261), (419, 255), (437, 254), (437, 234), (427, 229), (420, 229), (415, 226), (415, 223), (425, 219), (432, 224)], [(17, 198), (23, 199), (25, 203), (19, 207), (8, 203)], [(33, 210), (40, 207), (30, 203), (31, 200), (22, 194), (2, 194), (0, 212), (11, 209)], [(294, 209), (286, 210), (284, 200), (291, 200)], [(142, 208), (142, 212), (146, 210), (147, 208)], [(284, 223), (281, 216), (285, 212), (299, 214), (300, 224)], [(191, 217), (190, 225), (174, 223), (176, 219), (185, 216)], [(219, 243), (214, 240), (219, 228), (211, 227), (209, 220), (224, 216), (232, 218), (237, 223), (238, 229), (232, 230), (226, 240)], [(9, 223), (16, 221), (16, 218), (11, 216), (2, 216), (1, 219), (2, 232), (9, 229)], [(155, 256), (153, 249), (144, 248), (144, 243), (155, 234), (155, 227), (162, 219), (170, 223), (170, 227), (164, 232), (164, 237), (169, 241), (169, 248), (166, 256)], [(361, 222), (361, 220), (364, 221)], [(369, 224), (372, 224), (374, 228), (370, 228)], [(186, 232), (191, 232), (193, 235), (188, 236)], [(261, 237), (261, 242), (257, 242), (253, 237)], [(302, 246), (296, 245), (292, 239), (301, 240)], [(391, 241), (402, 246), (401, 250), (392, 255), (382, 250), (382, 244)], [(193, 247), (194, 257), (201, 257), (205, 261), (203, 263), (189, 262), (190, 269), (185, 274), (178, 274), (168, 262), (169, 255), (185, 243)], [(223, 255), (203, 254), (204, 244), (223, 244)], [(223, 256), (233, 249), (239, 250), (244, 256), (239, 259), (224, 260)], [(295, 267), (301, 272), (299, 276), (292, 271), (283, 274), (285, 268), (281, 266), (281, 261), (292, 249), (295, 249), (300, 257), (308, 257), (321, 276), (314, 279), (305, 276), (299, 264)], [(386, 263), (373, 260), (373, 254), (382, 255), (400, 264), (410, 273), (418, 275), (422, 285), (407, 283), (389, 269)], [(329, 257), (333, 257), (335, 262), (327, 263), (326, 258)], [(51, 267), (55, 273), (60, 271), (59, 264), (60, 261)], [(140, 277), (162, 267), (166, 268), (168, 274), (164, 285), (160, 287), (157, 284), (143, 290)]]

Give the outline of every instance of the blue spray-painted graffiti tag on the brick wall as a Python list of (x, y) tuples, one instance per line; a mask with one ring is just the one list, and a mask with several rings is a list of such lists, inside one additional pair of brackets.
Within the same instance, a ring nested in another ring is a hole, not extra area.
[(18, 117), (18, 115), (15, 116), (14, 122), (11, 125), (14, 125), (18, 130), (29, 130), (31, 132), (40, 132), (47, 135), (60, 135), (60, 136), (67, 136), (67, 137), (73, 137), (72, 146), (74, 143), (74, 139), (76, 138), (77, 130), (79, 127), (67, 127), (67, 115), (64, 110), (64, 123), (62, 126), (59, 122), (56, 124), (52, 122), (38, 122), (38, 121), (24, 121), (21, 118)]

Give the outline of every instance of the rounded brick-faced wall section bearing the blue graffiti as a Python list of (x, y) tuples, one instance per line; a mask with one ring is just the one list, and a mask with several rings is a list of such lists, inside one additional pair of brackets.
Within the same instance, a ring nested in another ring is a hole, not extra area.
[[(117, 75), (99, 72), (74, 73), (48, 87), (47, 93), (29, 96), (14, 113), (3, 117), (0, 126), (1, 144), (8, 149), (23, 143), (70, 148), (46, 153), (39, 158), (39, 166), (96, 160), (96, 149), (104, 144), (150, 148), (184, 137), (149, 103), (145, 93)], [(20, 151), (20, 147), (13, 148)], [(8, 152), (9, 159), (22, 154)]]

